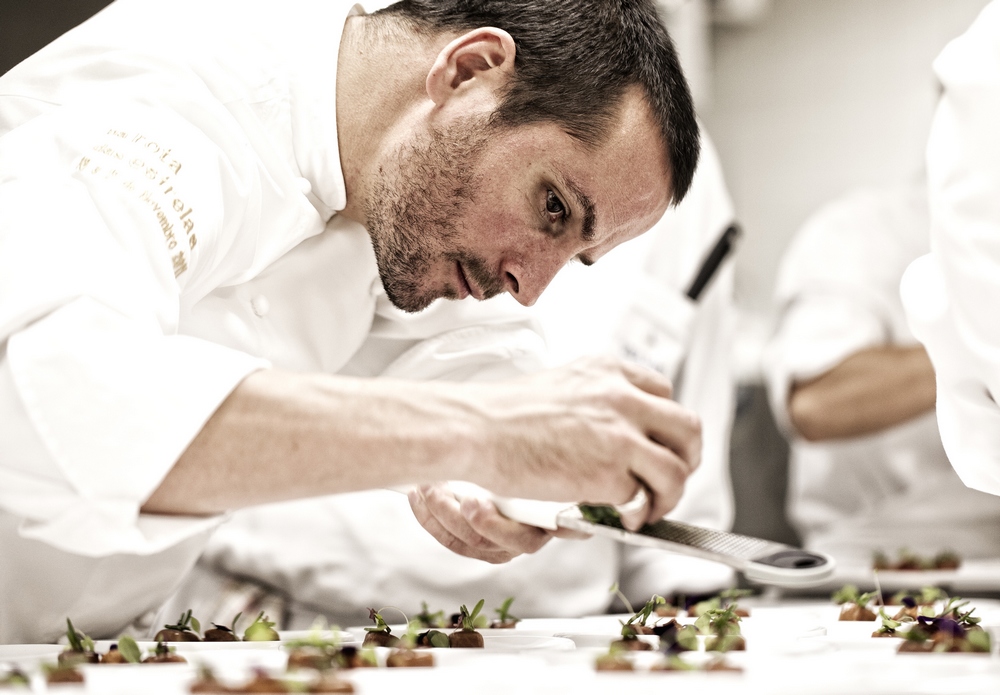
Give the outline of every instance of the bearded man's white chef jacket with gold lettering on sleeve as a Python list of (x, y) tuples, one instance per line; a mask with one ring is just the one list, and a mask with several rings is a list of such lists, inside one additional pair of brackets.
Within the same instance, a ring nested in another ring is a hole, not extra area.
[(176, 588), (218, 519), (139, 508), (248, 373), (540, 364), (509, 298), (395, 310), (335, 214), (361, 11), (119, 0), (0, 78), (0, 642)]

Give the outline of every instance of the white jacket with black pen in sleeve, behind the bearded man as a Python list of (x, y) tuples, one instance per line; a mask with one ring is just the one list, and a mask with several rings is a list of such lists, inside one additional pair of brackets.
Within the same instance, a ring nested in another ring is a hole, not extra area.
[[(616, 326), (625, 322), (633, 333), (641, 324), (643, 345), (656, 348), (642, 361), (687, 354), (677, 398), (700, 414), (704, 450), (671, 517), (720, 529), (732, 522), (732, 263), (697, 306), (683, 292), (732, 215), (717, 156), (706, 142), (691, 190), (676, 209), (593, 267), (564, 268), (534, 307), (553, 365), (618, 350), (622, 333)], [(676, 343), (675, 349), (663, 343)], [(665, 367), (671, 377), (675, 368)], [(390, 371), (412, 375), (410, 369)], [(402, 495), (372, 491), (236, 512), (213, 536), (197, 573), (164, 608), (163, 618), (192, 607), (206, 620), (229, 620), (243, 607), (232, 602), (232, 594), (241, 600), (247, 594), (245, 585), (234, 588), (233, 578), (251, 578), (287, 599), (286, 626), (303, 629), (319, 614), (348, 626), (366, 624), (366, 607), (392, 605), (412, 614), (426, 601), (432, 609), (455, 612), (480, 598), (489, 608), (499, 606), (508, 596), (516, 597), (513, 611), (520, 617), (588, 615), (608, 608), (613, 582), (639, 603), (653, 593), (717, 590), (731, 583), (732, 572), (606, 539), (556, 539), (534, 554), (490, 565), (440, 546), (414, 520)]]

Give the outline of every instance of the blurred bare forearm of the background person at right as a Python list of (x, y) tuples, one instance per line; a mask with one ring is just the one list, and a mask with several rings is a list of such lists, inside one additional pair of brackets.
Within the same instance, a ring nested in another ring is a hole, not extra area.
[(898, 425), (934, 407), (934, 369), (920, 346), (857, 352), (830, 371), (797, 383), (788, 412), (810, 441), (858, 437)]

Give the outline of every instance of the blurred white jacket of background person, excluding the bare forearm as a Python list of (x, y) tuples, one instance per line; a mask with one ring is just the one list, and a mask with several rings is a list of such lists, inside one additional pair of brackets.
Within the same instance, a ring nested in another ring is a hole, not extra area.
[(899, 297), (907, 265), (927, 252), (923, 183), (865, 190), (813, 215), (781, 262), (778, 329), (765, 353), (772, 407), (791, 441), (789, 517), (804, 543), (844, 569), (900, 548), (1000, 554), (1000, 500), (969, 490), (941, 447), (934, 413), (880, 433), (826, 442), (797, 436), (795, 381), (880, 345), (913, 345)]

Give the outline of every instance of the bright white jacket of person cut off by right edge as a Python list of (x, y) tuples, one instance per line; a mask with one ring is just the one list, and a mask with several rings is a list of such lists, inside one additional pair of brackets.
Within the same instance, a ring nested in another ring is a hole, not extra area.
[(927, 145), (930, 254), (901, 291), (937, 374), (945, 451), (1000, 495), (1000, 3), (934, 62), (943, 92)]

